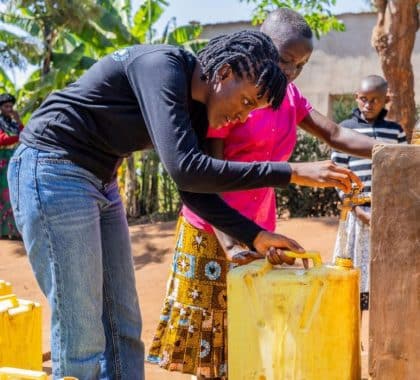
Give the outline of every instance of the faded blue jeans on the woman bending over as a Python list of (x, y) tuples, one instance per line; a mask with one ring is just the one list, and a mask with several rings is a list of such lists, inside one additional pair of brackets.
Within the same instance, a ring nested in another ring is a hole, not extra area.
[(116, 182), (21, 145), (11, 203), (52, 311), (54, 378), (144, 379), (130, 236)]

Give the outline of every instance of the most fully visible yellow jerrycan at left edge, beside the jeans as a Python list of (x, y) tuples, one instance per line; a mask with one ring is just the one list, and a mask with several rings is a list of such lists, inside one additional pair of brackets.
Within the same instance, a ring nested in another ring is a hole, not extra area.
[(41, 305), (0, 297), (0, 367), (42, 369)]

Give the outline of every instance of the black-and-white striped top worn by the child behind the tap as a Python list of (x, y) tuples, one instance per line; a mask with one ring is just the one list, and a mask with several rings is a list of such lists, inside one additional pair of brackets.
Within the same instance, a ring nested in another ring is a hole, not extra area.
[[(406, 136), (401, 126), (393, 121), (384, 119), (386, 110), (382, 110), (373, 123), (364, 120), (358, 109), (353, 111), (351, 119), (344, 120), (340, 126), (353, 129), (356, 132), (373, 137), (375, 140), (390, 144), (406, 144)], [(372, 160), (350, 156), (346, 153), (333, 151), (331, 160), (337, 165), (352, 170), (363, 182), (363, 193), (370, 195), (372, 187)], [(344, 193), (338, 191), (340, 198)]]

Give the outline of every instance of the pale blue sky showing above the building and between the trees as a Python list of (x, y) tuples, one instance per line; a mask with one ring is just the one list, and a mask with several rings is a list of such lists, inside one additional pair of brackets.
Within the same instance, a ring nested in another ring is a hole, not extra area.
[[(137, 10), (144, 0), (132, 0), (133, 10)], [(157, 35), (160, 35), (163, 28), (172, 18), (176, 18), (177, 25), (187, 24), (189, 21), (199, 21), (202, 24), (214, 24), (227, 21), (250, 20), (254, 4), (247, 4), (239, 0), (167, 0), (169, 6), (155, 24)], [(336, 6), (332, 8), (335, 14), (345, 12), (362, 12), (369, 9), (367, 0), (337, 0)], [(0, 9), (4, 4), (0, 4)], [(16, 70), (10, 73), (17, 85), (22, 85), (33, 68), (26, 72)]]

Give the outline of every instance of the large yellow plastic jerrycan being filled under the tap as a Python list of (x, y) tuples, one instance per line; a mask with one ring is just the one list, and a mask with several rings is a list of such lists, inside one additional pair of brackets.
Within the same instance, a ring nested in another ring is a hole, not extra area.
[(351, 260), (308, 270), (265, 260), (228, 274), (232, 380), (360, 380), (359, 271)]

